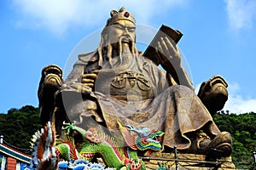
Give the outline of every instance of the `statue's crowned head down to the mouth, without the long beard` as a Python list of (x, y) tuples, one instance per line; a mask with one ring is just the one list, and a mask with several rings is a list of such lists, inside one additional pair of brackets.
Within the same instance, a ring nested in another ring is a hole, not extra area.
[(108, 43), (135, 42), (135, 19), (124, 7), (119, 11), (112, 10), (102, 34), (108, 38)]

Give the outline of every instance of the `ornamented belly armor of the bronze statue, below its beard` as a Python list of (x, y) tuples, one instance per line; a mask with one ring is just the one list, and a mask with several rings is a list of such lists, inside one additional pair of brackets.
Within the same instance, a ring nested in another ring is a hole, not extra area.
[(104, 72), (96, 81), (97, 92), (129, 101), (154, 98), (153, 89), (152, 83), (135, 71)]

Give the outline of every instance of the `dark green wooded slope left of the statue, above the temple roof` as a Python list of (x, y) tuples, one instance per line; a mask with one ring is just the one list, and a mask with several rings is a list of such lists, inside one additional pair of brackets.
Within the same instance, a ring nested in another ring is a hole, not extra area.
[(26, 105), (20, 109), (10, 109), (8, 114), (0, 114), (0, 118), (0, 134), (4, 142), (30, 154), (30, 150), (22, 149), (30, 148), (33, 133), (41, 128), (38, 108)]

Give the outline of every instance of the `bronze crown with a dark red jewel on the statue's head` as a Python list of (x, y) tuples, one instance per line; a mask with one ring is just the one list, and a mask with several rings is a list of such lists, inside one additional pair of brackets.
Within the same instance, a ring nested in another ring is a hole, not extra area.
[(130, 14), (126, 8), (122, 7), (119, 9), (119, 12), (116, 10), (112, 10), (110, 12), (111, 18), (108, 19), (107, 26), (113, 25), (113, 23), (117, 20), (129, 20), (133, 24), (135, 24), (135, 19), (132, 14)]

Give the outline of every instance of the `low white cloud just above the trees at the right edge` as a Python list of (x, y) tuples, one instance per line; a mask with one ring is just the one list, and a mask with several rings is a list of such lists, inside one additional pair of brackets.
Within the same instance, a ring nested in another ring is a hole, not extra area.
[(229, 99), (224, 106), (224, 111), (231, 113), (247, 113), (256, 112), (256, 99), (244, 98), (239, 94), (240, 87), (238, 83), (232, 82), (229, 84)]

